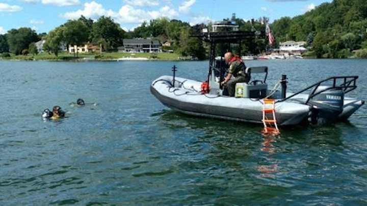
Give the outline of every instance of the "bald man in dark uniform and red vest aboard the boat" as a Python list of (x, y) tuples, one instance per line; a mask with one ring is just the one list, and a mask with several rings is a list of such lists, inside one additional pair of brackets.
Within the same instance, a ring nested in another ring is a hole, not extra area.
[[(229, 65), (229, 69), (228, 75), (221, 84), (226, 84), (229, 96), (234, 97), (235, 84), (240, 82), (248, 83), (251, 77), (245, 73), (246, 66), (241, 57), (233, 56), (232, 52), (227, 52), (224, 54), (224, 60)], [(234, 79), (231, 79), (232, 76), (234, 76)]]

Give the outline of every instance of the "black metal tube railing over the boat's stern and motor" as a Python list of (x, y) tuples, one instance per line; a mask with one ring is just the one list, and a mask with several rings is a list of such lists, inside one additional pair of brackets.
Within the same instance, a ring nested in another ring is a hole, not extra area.
[[(357, 88), (356, 86), (356, 80), (358, 79), (358, 76), (335, 76), (335, 77), (330, 77), (330, 78), (327, 78), (327, 79), (324, 79), (322, 81), (319, 81), (315, 84), (312, 84), (311, 86), (308, 86), (306, 87), (305, 89), (289, 96), (289, 97), (286, 97), (284, 99), (281, 99), (281, 100), (278, 100), (277, 102), (283, 102), (283, 101), (286, 101), (286, 100), (289, 100), (307, 90), (310, 90), (312, 89), (312, 92), (310, 93), (310, 95), (308, 96), (306, 102), (304, 104), (307, 104), (310, 99), (312, 99), (314, 96), (317, 96), (319, 95), (320, 93), (323, 93), (325, 91), (328, 91), (328, 90), (343, 90), (344, 94), (347, 94), (353, 90), (355, 90)], [(323, 86), (322, 83), (325, 83), (325, 82), (331, 82), (332, 81), (332, 85), (325, 85), (325, 86), (328, 86), (326, 87), (326, 89), (322, 89), (322, 90), (318, 90), (320, 86)], [(342, 83), (340, 82), (342, 81)], [(341, 84), (340, 84), (341, 83)]]

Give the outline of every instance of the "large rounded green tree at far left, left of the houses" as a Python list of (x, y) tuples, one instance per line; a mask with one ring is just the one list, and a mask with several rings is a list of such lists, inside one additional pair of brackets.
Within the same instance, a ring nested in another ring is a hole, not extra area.
[(39, 41), (38, 35), (31, 28), (21, 27), (8, 31), (8, 44), (10, 52), (18, 55), (22, 50), (28, 49), (32, 42)]

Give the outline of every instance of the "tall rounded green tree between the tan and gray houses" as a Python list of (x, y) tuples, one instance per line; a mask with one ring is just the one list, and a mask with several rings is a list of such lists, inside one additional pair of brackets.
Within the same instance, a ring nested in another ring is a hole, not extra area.
[(92, 40), (95, 44), (102, 44), (104, 50), (110, 50), (122, 45), (125, 31), (111, 17), (100, 17), (92, 26)]

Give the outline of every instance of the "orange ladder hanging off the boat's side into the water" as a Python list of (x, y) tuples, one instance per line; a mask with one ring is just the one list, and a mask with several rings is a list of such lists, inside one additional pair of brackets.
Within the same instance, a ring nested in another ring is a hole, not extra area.
[(266, 135), (280, 134), (278, 125), (275, 119), (275, 100), (273, 99), (264, 99), (263, 123), (264, 123), (263, 134), (266, 134)]

